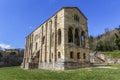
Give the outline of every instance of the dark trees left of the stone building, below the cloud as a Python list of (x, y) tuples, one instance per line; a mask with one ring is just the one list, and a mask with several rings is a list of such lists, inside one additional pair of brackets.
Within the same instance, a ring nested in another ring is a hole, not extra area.
[(22, 63), (24, 49), (0, 50), (0, 67), (18, 66)]

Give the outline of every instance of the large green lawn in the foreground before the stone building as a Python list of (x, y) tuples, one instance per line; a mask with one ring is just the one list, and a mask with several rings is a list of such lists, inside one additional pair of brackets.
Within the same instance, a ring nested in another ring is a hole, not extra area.
[(111, 67), (115, 69), (94, 67), (66, 71), (50, 71), (5, 67), (0, 68), (0, 80), (120, 80), (120, 65), (112, 65)]

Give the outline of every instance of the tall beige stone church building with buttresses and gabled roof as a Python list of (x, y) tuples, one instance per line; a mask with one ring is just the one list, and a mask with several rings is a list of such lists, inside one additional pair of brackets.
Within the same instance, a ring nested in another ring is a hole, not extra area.
[(63, 7), (26, 37), (22, 68), (66, 70), (90, 66), (87, 18)]

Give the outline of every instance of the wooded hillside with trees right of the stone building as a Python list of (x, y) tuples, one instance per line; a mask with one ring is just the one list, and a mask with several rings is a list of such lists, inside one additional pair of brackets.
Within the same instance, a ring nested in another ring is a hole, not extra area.
[(90, 36), (90, 49), (98, 51), (120, 50), (120, 27), (114, 30), (105, 29), (105, 33), (96, 37)]

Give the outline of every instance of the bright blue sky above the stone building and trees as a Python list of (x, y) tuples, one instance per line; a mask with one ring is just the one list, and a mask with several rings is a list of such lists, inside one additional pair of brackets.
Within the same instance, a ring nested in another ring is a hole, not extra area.
[(120, 0), (0, 0), (0, 47), (24, 48), (25, 37), (65, 6), (84, 13), (89, 35), (120, 25)]

